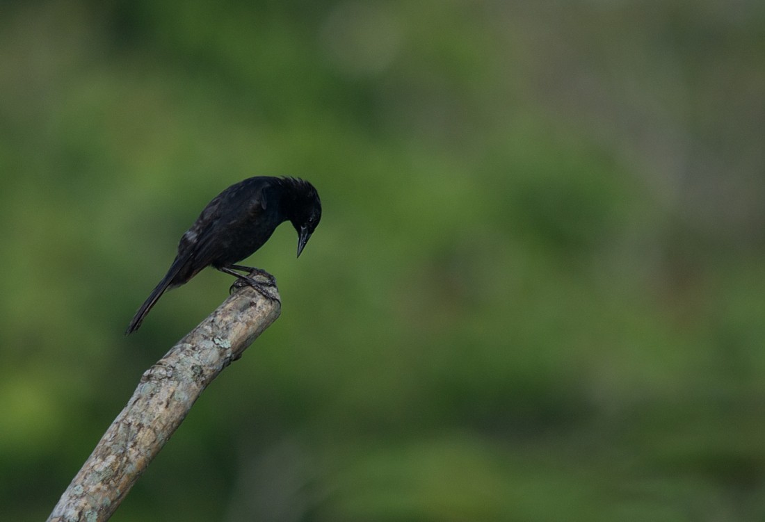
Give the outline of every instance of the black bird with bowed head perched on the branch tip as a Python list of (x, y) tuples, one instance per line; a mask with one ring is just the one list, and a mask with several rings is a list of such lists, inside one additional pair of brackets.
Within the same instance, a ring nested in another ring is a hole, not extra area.
[(266, 295), (250, 277), (236, 273), (265, 274), (257, 268), (235, 264), (249, 257), (269, 240), (285, 221), (298, 231), (298, 257), (321, 219), (321, 201), (308, 181), (292, 177), (251, 177), (229, 186), (213, 198), (178, 243), (178, 253), (168, 274), (135, 313), (125, 335), (135, 332), (151, 307), (166, 291), (187, 283), (208, 266), (244, 280)]

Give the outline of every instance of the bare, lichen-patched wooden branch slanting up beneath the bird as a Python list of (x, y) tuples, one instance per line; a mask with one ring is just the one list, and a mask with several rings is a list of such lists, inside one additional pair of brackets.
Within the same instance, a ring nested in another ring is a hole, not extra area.
[(271, 290), (275, 300), (252, 287), (239, 288), (143, 374), (49, 522), (96, 522), (112, 516), (205, 387), (279, 316), (278, 290)]

